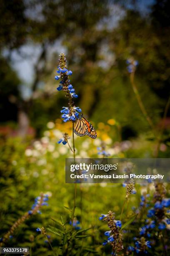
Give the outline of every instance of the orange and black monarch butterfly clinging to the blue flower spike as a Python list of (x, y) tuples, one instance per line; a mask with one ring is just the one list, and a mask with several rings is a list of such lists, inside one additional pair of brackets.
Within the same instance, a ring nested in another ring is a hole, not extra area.
[(94, 127), (87, 121), (82, 114), (79, 115), (77, 123), (74, 128), (74, 133), (80, 137), (89, 136), (91, 138), (96, 138), (97, 133)]

